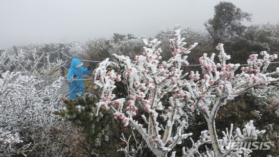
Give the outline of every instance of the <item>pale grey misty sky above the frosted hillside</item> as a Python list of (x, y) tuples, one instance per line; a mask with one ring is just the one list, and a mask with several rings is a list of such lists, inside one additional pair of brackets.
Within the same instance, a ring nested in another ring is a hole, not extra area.
[[(279, 0), (227, 0), (253, 13), (251, 24), (279, 22)], [(0, 48), (84, 42), (113, 33), (154, 36), (178, 24), (199, 27), (219, 0), (0, 0)]]

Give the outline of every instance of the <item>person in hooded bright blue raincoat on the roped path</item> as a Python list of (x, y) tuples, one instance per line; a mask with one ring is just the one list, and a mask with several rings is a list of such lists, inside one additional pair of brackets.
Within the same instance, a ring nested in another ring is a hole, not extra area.
[(76, 94), (84, 95), (83, 75), (88, 74), (92, 70), (90, 66), (84, 68), (82, 65), (83, 63), (79, 59), (76, 57), (72, 58), (67, 78), (70, 81), (70, 98), (73, 100), (76, 99)]

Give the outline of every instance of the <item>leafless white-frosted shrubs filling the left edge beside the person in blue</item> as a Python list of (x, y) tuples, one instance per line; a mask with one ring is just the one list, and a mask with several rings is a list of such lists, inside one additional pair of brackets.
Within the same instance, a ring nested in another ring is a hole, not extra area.
[(74, 132), (72, 127), (52, 114), (61, 106), (63, 62), (49, 62), (46, 56), (47, 63), (40, 68), (41, 56), (32, 56), (29, 60), (23, 52), (0, 53), (0, 156), (63, 156), (71, 149), (66, 137)]

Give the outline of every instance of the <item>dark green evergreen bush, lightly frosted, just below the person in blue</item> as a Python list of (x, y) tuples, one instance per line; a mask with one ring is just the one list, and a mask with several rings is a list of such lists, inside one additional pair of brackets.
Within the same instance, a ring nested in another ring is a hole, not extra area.
[(93, 112), (96, 102), (96, 97), (89, 94), (78, 96), (76, 101), (65, 100), (67, 109), (56, 114), (82, 128), (87, 141), (83, 149), (86, 147), (85, 150), (93, 150), (90, 152), (92, 156), (122, 157), (122, 152), (116, 152), (121, 146), (119, 138), (122, 124), (106, 111), (95, 116)]

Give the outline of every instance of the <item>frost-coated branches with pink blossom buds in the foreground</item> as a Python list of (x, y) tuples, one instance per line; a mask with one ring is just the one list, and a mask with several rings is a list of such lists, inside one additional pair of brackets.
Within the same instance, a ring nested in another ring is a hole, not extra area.
[[(248, 66), (241, 68), (241, 74), (235, 74), (240, 64), (227, 63), (230, 55), (225, 53), (223, 44), (218, 44), (218, 63), (214, 62), (215, 53), (210, 57), (204, 53), (200, 57), (203, 75), (200, 78), (198, 72), (185, 73), (182, 70), (189, 65), (187, 54), (197, 46), (194, 43), (184, 48), (184, 40), (180, 30), (175, 31), (169, 45), (172, 57), (167, 61), (161, 60), (162, 50), (157, 49), (161, 42), (154, 39), (150, 42), (143, 40), (145, 47), (142, 55), (136, 55), (134, 60), (113, 54), (114, 61), (107, 58), (101, 62), (93, 72), (100, 97), (95, 114), (98, 114), (100, 107), (111, 111), (115, 119), (122, 120), (124, 127), (137, 130), (157, 157), (174, 157), (175, 146), (186, 138), (192, 141), (192, 147), (183, 148), (183, 157), (247, 157), (251, 150), (241, 146), (238, 150), (232, 150), (230, 143), (255, 140), (265, 131), (256, 130), (253, 121), (250, 121), (242, 130), (237, 128), (233, 131), (231, 125), (231, 129), (223, 131), (220, 138), (215, 128), (215, 117), (221, 106), (239, 94), (251, 88), (278, 85), (279, 78), (272, 76), (279, 73), (279, 68), (273, 73), (266, 72), (277, 55), (267, 52), (260, 52), (260, 56), (252, 54), (247, 60)], [(107, 71), (107, 67), (112, 65), (124, 67), (123, 73)], [(116, 99), (114, 89), (117, 81), (127, 85), (128, 97)], [(164, 103), (163, 99), (168, 101)], [(187, 132), (189, 117), (195, 112), (203, 115), (208, 126), (197, 141), (191, 139), (191, 132)], [(205, 144), (206, 151), (199, 152), (199, 148)], [(207, 147), (208, 144), (212, 149)], [(128, 148), (124, 151), (129, 153)]]

